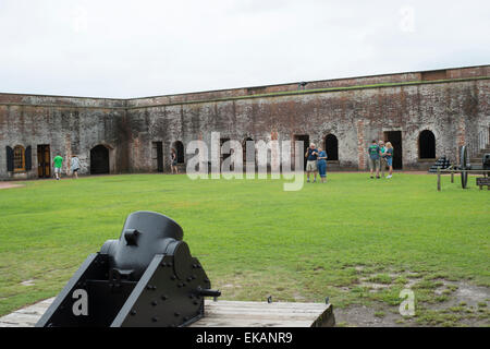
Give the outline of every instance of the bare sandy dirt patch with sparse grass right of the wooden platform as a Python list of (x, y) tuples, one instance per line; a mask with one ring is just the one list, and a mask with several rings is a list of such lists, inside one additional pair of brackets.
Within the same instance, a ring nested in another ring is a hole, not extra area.
[[(355, 304), (334, 308), (339, 326), (406, 327), (406, 326), (489, 326), (490, 288), (468, 280), (448, 280), (438, 274), (379, 270), (355, 267), (359, 273), (354, 288), (340, 287), (342, 292), (366, 289)], [(357, 288), (356, 288), (357, 287)], [(415, 294), (415, 315), (402, 316), (399, 311), (401, 289)], [(358, 302), (358, 303), (357, 303)]]

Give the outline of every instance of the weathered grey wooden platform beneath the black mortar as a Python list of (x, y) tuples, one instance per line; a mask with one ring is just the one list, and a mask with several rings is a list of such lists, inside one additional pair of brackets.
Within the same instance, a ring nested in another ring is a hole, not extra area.
[[(0, 327), (34, 327), (54, 298), (0, 317)], [(331, 304), (206, 300), (206, 316), (192, 327), (330, 327)]]

